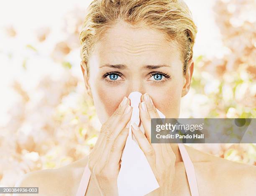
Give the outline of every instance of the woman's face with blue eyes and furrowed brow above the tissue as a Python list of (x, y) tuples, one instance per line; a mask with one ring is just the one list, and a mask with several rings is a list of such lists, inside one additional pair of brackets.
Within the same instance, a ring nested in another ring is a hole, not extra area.
[(189, 90), (193, 63), (189, 61), (184, 76), (178, 46), (167, 41), (163, 33), (146, 27), (133, 29), (120, 22), (95, 45), (88, 64), (90, 78), (85, 73), (84, 79), (101, 123), (133, 91), (147, 92), (166, 118), (179, 117), (180, 100)]

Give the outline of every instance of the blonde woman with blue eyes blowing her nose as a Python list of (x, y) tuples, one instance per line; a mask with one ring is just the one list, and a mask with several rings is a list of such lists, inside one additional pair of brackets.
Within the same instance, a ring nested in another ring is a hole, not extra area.
[[(189, 196), (189, 183), (177, 144), (151, 144), (150, 119), (178, 118), (181, 97), (190, 87), (197, 29), (181, 0), (94, 0), (80, 34), (81, 68), (87, 92), (102, 123), (90, 155), (65, 167), (26, 174), (16, 186), (39, 187), (39, 195), (74, 196), (88, 163), (92, 173), (85, 193), (118, 195), (120, 157), (128, 136), (133, 91), (145, 135), (132, 132), (159, 188), (150, 195)], [(195, 168), (200, 196), (253, 196), (256, 167), (185, 147)], [(17, 195), (17, 194), (16, 194)], [(37, 194), (38, 195), (38, 194)]]

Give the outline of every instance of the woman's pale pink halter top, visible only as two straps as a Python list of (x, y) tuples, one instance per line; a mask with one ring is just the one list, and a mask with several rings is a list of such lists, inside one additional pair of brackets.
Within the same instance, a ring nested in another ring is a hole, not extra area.
[[(192, 196), (199, 196), (198, 188), (197, 188), (197, 178), (195, 176), (195, 168), (194, 165), (189, 158), (189, 155), (187, 153), (186, 148), (184, 147), (184, 144), (178, 144), (179, 146), (179, 152), (182, 156), (182, 160), (185, 166), (185, 170), (187, 173), (187, 180), (189, 182), (189, 189)], [(88, 164), (86, 165), (84, 169), (84, 173), (82, 176), (82, 179), (79, 184), (79, 188), (77, 190), (76, 196), (84, 196), (90, 181), (91, 171), (88, 168)]]

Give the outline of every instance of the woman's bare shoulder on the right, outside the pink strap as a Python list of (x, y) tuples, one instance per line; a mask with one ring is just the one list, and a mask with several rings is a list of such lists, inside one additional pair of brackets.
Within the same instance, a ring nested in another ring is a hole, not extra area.
[(186, 147), (195, 167), (198, 184), (219, 195), (254, 196), (256, 192), (256, 166), (237, 163)]

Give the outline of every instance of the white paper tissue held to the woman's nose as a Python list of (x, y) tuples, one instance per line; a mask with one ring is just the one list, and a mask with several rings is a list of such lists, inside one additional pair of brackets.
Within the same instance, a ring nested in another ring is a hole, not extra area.
[[(138, 104), (141, 102), (140, 92), (131, 92), (128, 96), (131, 99), (133, 113), (131, 116), (131, 125), (136, 122), (144, 132), (142, 123), (140, 123)], [(165, 118), (158, 109), (156, 109), (160, 118)], [(118, 174), (118, 195), (119, 196), (144, 196), (156, 188), (159, 184), (154, 173), (139, 147), (138, 143), (133, 140), (131, 125), (129, 127), (129, 135), (121, 156), (121, 167)]]

